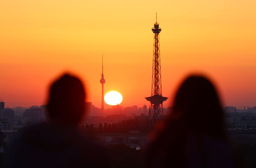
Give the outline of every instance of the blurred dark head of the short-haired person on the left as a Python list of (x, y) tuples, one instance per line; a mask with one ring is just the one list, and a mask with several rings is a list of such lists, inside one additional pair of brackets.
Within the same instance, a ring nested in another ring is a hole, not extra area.
[(75, 76), (64, 74), (50, 88), (47, 104), (52, 122), (75, 125), (84, 113), (85, 92), (82, 82)]

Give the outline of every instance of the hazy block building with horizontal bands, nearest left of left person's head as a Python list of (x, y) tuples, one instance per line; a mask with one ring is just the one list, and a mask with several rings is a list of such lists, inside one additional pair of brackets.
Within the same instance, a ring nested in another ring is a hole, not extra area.
[(42, 109), (41, 108), (30, 108), (25, 110), (23, 113), (23, 120), (27, 124), (37, 124), (42, 121)]

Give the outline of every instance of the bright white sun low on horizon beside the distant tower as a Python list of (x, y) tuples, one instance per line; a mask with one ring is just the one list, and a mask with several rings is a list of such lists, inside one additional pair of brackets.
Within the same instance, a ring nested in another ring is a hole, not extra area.
[(114, 105), (120, 104), (123, 101), (123, 96), (119, 92), (110, 91), (105, 94), (104, 101), (108, 105), (114, 106)]

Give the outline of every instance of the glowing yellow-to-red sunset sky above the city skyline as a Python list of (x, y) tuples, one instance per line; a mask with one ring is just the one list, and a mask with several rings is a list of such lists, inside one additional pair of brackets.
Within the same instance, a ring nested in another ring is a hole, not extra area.
[(255, 9), (255, 0), (1, 0), (0, 99), (45, 104), (50, 82), (69, 71), (100, 107), (103, 54), (105, 93), (148, 105), (157, 11), (164, 107), (191, 72), (214, 81), (224, 106), (256, 106)]

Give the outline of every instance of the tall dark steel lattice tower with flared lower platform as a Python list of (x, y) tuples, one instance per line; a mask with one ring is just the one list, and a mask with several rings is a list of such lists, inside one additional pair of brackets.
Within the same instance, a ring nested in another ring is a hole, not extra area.
[(161, 82), (161, 64), (160, 64), (160, 43), (159, 43), (159, 33), (161, 28), (157, 23), (157, 13), (156, 13), (156, 23), (152, 28), (154, 33), (154, 49), (153, 49), (153, 67), (152, 67), (152, 88), (151, 96), (145, 97), (147, 101), (150, 101), (149, 107), (149, 119), (155, 122), (157, 119), (163, 117), (163, 101), (166, 101), (168, 97), (162, 96), (162, 82)]

